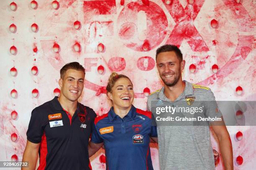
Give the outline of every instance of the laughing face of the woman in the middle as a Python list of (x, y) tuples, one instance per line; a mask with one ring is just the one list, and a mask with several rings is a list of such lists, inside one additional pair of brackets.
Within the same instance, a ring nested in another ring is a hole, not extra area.
[(131, 107), (134, 99), (133, 85), (128, 78), (119, 78), (112, 87), (112, 92), (108, 92), (108, 97), (115, 107), (126, 109)]

